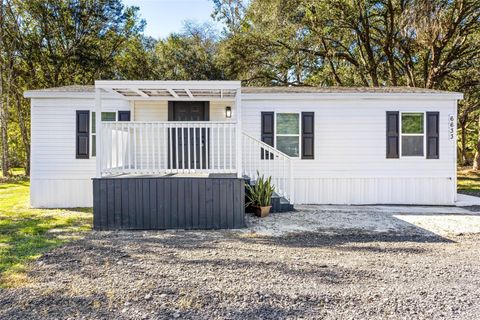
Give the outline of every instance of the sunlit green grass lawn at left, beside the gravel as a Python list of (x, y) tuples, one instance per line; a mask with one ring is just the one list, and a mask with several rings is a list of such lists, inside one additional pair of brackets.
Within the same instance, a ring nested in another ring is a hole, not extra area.
[(28, 180), (12, 173), (0, 176), (0, 288), (25, 284), (29, 261), (92, 227), (91, 209), (31, 209)]

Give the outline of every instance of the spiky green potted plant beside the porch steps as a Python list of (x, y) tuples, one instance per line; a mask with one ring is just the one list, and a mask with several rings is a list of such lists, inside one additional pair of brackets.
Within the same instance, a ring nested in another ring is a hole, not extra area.
[(272, 195), (275, 188), (272, 185), (272, 177), (259, 176), (255, 185), (247, 185), (247, 206), (253, 208), (255, 215), (261, 218), (268, 216), (272, 208)]

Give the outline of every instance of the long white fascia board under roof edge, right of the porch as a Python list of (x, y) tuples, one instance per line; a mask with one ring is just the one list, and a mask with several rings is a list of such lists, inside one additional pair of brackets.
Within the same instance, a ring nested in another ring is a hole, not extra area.
[(451, 93), (242, 93), (242, 100), (461, 100), (463, 94)]

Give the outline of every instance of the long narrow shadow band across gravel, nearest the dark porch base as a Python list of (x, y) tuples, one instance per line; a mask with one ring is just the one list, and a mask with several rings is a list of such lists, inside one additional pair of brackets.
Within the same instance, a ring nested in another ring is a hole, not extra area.
[[(289, 234), (285, 236), (262, 236), (249, 233), (240, 233), (235, 231), (132, 231), (120, 233), (97, 233), (96, 242), (105, 240), (97, 249), (105, 253), (101, 256), (116, 252), (117, 255), (125, 254), (121, 248), (131, 245), (141, 247), (142, 253), (155, 254), (159, 250), (214, 250), (218, 249), (219, 243), (243, 242), (249, 244), (266, 246), (284, 246), (292, 248), (321, 248), (337, 247), (340, 250), (347, 250), (348, 244), (369, 244), (369, 243), (455, 243), (455, 241), (439, 236), (437, 234), (425, 231), (424, 234), (415, 234), (411, 236), (399, 235), (395, 233), (363, 234), (358, 230), (351, 230), (345, 235), (329, 235), (318, 232), (303, 232)], [(89, 245), (93, 245), (89, 242)], [(352, 250), (370, 250), (372, 252), (405, 252), (422, 253), (424, 249), (411, 247), (382, 247), (351, 246)], [(168, 253), (168, 251), (167, 251)]]

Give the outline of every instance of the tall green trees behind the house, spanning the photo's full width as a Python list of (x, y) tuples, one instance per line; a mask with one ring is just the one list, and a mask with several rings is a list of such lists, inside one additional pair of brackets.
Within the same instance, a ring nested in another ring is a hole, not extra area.
[(480, 127), (478, 0), (212, 1), (221, 35), (208, 23), (187, 22), (165, 39), (143, 35), (138, 8), (122, 0), (2, 1), (8, 141), (0, 147), (10, 150), (11, 164), (28, 168), (25, 90), (96, 79), (461, 91), (459, 159), (471, 162)]

